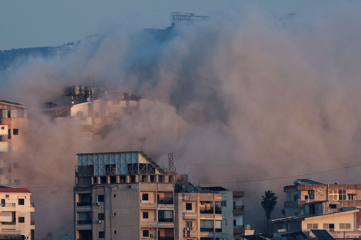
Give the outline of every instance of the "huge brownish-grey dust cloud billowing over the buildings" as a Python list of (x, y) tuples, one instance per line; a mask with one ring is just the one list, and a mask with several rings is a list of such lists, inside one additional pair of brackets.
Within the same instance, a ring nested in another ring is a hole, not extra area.
[[(73, 232), (76, 153), (141, 150), (165, 167), (172, 152), (191, 183), (245, 191), (243, 221), (256, 232), (265, 190), (279, 197), (276, 218), (296, 178), (360, 182), (361, 5), (335, 5), (283, 18), (249, 7), (161, 39), (113, 26), (96, 43), (14, 66), (4, 98), (30, 109), (21, 186), (33, 192), (37, 236)], [(86, 142), (40, 106), (93, 80), (150, 102)]]

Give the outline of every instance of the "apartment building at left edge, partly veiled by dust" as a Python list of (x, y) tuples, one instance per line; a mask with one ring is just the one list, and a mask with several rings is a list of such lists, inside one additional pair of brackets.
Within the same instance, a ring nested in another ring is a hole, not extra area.
[(25, 144), (28, 130), (28, 110), (23, 103), (0, 101), (0, 184), (20, 184), (16, 178), (19, 164), (14, 161)]

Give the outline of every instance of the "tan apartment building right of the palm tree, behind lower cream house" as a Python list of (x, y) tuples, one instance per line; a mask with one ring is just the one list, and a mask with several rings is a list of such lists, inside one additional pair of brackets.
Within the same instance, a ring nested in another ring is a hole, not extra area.
[(311, 179), (296, 179), (294, 185), (285, 186), (284, 210), (286, 217), (304, 215), (304, 204), (310, 202), (339, 201), (343, 207), (361, 207), (361, 184), (326, 184)]

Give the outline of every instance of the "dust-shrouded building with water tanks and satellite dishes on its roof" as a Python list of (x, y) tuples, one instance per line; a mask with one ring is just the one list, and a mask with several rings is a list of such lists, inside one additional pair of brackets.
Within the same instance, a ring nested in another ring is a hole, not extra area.
[(134, 112), (141, 100), (148, 102), (134, 93), (73, 85), (57, 102), (47, 102), (45, 112), (51, 117), (72, 117), (82, 137), (92, 139), (124, 114)]

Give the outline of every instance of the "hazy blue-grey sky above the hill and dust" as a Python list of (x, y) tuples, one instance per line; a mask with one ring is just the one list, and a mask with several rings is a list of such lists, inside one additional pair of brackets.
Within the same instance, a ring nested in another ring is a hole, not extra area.
[(0, 0), (0, 50), (61, 46), (83, 40), (111, 24), (127, 33), (170, 26), (171, 13), (227, 17), (254, 4), (276, 17), (312, 14), (326, 1), (239, 0)]

